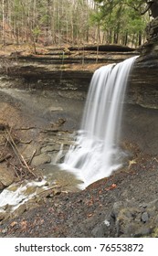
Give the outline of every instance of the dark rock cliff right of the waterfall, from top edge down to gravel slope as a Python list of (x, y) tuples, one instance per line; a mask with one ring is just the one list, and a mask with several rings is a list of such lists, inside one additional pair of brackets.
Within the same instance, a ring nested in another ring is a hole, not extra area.
[[(126, 93), (123, 133), (132, 137), (142, 151), (158, 152), (158, 2), (153, 1), (153, 17), (147, 26), (147, 42), (136, 59)], [(154, 6), (154, 7), (153, 7)]]

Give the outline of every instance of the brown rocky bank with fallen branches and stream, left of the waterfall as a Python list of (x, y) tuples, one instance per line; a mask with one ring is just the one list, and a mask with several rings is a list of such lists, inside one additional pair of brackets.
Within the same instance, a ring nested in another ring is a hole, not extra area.
[(76, 100), (68, 98), (66, 103), (58, 91), (6, 87), (1, 88), (0, 96), (0, 208), (1, 219), (5, 219), (38, 194), (78, 190), (79, 181), (55, 165), (73, 143), (67, 122)]

